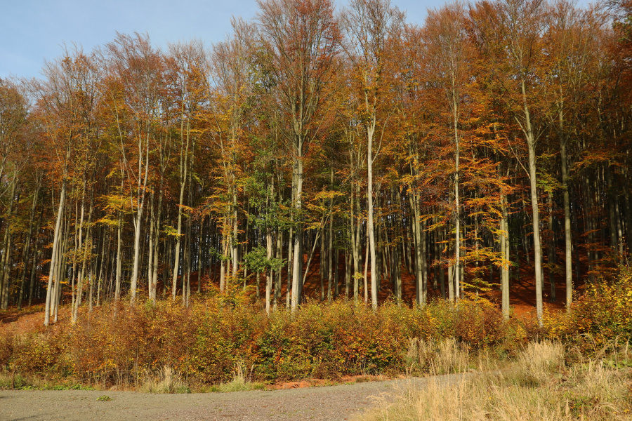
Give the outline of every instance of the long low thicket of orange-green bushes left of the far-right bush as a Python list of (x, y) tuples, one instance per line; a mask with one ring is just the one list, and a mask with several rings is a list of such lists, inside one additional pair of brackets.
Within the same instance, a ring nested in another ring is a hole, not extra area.
[(23, 337), (14, 348), (4, 338), (0, 352), (8, 356), (0, 357), (22, 373), (88, 384), (138, 387), (153, 378), (159, 385), (165, 367), (186, 385), (230, 382), (239, 367), (248, 368), (249, 381), (338, 380), (404, 373), (414, 338), (478, 351), (515, 347), (526, 336), (492, 305), (466, 300), (421, 309), (386, 302), (376, 312), (339, 300), (270, 316), (235, 300), (217, 295), (188, 309), (171, 302), (121, 305), (117, 312), (103, 307), (80, 314), (74, 326), (58, 323)]

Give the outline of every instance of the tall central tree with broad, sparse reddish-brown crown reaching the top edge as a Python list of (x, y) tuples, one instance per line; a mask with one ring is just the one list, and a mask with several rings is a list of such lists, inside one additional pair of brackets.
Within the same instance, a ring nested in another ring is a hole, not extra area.
[(258, 0), (258, 29), (265, 51), (264, 66), (274, 80), (279, 111), (288, 121), (284, 135), (293, 160), (294, 262), (291, 308), (303, 288), (303, 160), (325, 119), (322, 109), (327, 83), (336, 72), (341, 34), (329, 0)]

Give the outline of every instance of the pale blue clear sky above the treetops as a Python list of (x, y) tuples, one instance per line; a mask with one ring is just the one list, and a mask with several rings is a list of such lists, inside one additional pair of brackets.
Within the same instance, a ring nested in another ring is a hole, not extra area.
[[(392, 0), (421, 24), (428, 7), (444, 0)], [(337, 0), (338, 7), (346, 4)], [(39, 77), (44, 60), (62, 53), (62, 45), (84, 51), (114, 39), (116, 32), (147, 32), (152, 44), (198, 38), (222, 41), (231, 16), (253, 18), (255, 0), (0, 0), (0, 77)]]

